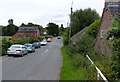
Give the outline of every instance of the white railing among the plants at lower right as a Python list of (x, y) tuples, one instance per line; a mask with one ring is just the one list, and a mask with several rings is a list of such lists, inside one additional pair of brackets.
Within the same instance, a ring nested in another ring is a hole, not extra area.
[(102, 72), (98, 69), (98, 67), (95, 66), (94, 62), (91, 60), (91, 58), (86, 55), (86, 57), (88, 58), (88, 60), (91, 62), (91, 64), (95, 67), (95, 69), (97, 70), (97, 80), (100, 80), (100, 76), (102, 77), (102, 79), (105, 82), (108, 82), (108, 80), (106, 79), (106, 77), (102, 74)]

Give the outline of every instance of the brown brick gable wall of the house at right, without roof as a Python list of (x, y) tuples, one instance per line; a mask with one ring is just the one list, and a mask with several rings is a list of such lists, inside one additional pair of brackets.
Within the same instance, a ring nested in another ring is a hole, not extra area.
[(105, 38), (104, 34), (103, 34), (103, 38), (101, 38), (100, 31), (103, 30), (103, 33), (104, 33), (104, 31), (106, 31), (108, 28), (111, 28), (111, 27), (112, 27), (112, 15), (110, 13), (109, 8), (104, 8), (102, 18), (101, 18), (100, 29), (99, 29), (98, 36), (96, 39), (96, 44), (95, 44), (100, 54), (102, 54), (102, 51), (103, 51), (102, 50), (102, 47), (103, 47), (102, 39)]

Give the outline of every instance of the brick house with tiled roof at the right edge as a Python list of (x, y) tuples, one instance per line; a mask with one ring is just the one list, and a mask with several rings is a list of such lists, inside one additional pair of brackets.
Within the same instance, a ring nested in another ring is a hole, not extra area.
[(112, 27), (113, 17), (120, 13), (120, 0), (105, 0), (99, 33), (96, 40), (96, 48), (99, 52), (103, 51), (102, 39), (105, 39), (104, 32)]

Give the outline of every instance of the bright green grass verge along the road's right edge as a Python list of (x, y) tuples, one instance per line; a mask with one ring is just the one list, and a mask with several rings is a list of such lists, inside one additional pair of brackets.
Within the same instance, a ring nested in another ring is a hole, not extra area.
[(86, 69), (79, 68), (75, 69), (72, 65), (71, 59), (67, 55), (67, 46), (61, 48), (62, 51), (62, 70), (60, 80), (85, 80)]

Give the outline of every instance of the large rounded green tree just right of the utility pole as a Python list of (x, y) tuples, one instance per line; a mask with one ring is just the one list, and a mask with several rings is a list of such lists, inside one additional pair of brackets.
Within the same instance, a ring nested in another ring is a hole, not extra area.
[(71, 15), (72, 36), (99, 18), (99, 14), (90, 8), (75, 11)]

